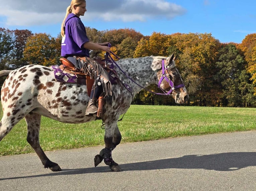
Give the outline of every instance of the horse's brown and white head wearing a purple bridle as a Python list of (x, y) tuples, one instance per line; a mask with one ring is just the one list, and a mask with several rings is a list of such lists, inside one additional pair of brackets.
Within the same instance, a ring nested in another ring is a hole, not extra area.
[(174, 54), (166, 59), (162, 58), (161, 70), (157, 72), (158, 87), (171, 95), (176, 103), (183, 104), (189, 99), (189, 96), (176, 68), (175, 59)]

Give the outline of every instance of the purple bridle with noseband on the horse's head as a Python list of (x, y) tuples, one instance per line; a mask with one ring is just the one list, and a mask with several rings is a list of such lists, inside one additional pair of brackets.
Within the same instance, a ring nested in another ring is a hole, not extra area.
[(174, 82), (171, 80), (170, 73), (168, 71), (169, 68), (170, 68), (170, 65), (166, 66), (165, 59), (162, 59), (162, 77), (160, 78), (160, 80), (158, 82), (158, 88), (160, 88), (162, 91), (164, 91), (160, 87), (160, 85), (161, 85), (162, 81), (165, 80), (166, 82), (168, 82), (169, 86), (171, 87), (171, 89), (166, 93), (166, 95), (170, 95), (172, 92), (177, 95), (178, 93), (175, 91), (175, 89), (183, 88), (183, 87), (185, 87), (185, 85), (182, 83), (178, 86), (174, 86)]

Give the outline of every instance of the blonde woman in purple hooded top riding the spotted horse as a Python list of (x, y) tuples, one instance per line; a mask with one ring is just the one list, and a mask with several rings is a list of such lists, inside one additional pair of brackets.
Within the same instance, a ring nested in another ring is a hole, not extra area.
[[(110, 53), (108, 42), (93, 43), (89, 41), (85, 26), (80, 19), (80, 16), (84, 16), (86, 11), (85, 0), (72, 0), (61, 25), (61, 56), (71, 62), (72, 59), (74, 60), (73, 56), (89, 57), (89, 49), (102, 50)], [(94, 84), (85, 112), (86, 115), (97, 113), (98, 107), (96, 106), (96, 102), (101, 93), (102, 86)]]

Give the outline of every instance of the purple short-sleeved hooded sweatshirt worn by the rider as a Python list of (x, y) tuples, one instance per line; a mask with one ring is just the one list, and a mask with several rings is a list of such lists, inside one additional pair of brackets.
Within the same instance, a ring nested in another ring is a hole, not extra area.
[(74, 13), (70, 13), (65, 21), (65, 26), (65, 36), (62, 37), (61, 42), (61, 56), (89, 57), (89, 50), (83, 47), (86, 42), (89, 42), (89, 39), (81, 19)]

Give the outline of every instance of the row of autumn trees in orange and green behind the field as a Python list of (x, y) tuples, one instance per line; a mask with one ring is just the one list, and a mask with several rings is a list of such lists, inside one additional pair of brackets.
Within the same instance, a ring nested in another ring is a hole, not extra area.
[[(256, 34), (242, 43), (221, 43), (212, 34), (152, 33), (144, 36), (133, 29), (98, 31), (86, 27), (92, 42), (110, 42), (120, 58), (178, 55), (177, 68), (190, 100), (186, 105), (254, 107), (256, 105)], [(13, 70), (29, 64), (58, 65), (60, 34), (33, 34), (29, 30), (0, 28), (0, 70)], [(102, 53), (103, 54), (103, 53)], [(0, 80), (2, 85), (4, 79)], [(149, 87), (159, 92), (156, 86)], [(133, 104), (174, 105), (169, 96), (142, 90)]]

